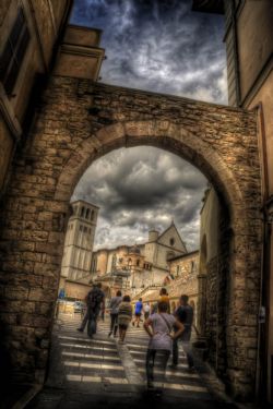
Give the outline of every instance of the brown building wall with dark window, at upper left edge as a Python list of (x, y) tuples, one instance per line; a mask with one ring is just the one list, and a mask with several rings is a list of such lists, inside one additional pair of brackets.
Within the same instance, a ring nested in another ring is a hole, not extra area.
[(52, 68), (71, 0), (0, 3), (0, 195), (24, 144), (33, 104)]

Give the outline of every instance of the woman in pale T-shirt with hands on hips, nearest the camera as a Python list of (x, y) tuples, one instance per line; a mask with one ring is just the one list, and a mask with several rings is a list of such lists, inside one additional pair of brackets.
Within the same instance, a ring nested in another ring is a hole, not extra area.
[[(150, 336), (146, 353), (146, 380), (147, 388), (154, 389), (154, 382), (159, 384), (157, 394), (162, 393), (165, 381), (165, 372), (170, 356), (173, 339), (182, 334), (183, 325), (174, 316), (167, 313), (167, 302), (158, 302), (158, 313), (150, 315), (144, 322), (144, 329)], [(176, 326), (177, 332), (171, 335)], [(154, 369), (156, 371), (154, 371)]]

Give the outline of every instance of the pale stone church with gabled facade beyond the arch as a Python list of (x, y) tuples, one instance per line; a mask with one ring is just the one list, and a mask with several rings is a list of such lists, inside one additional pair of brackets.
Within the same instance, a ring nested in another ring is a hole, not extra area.
[(112, 284), (112, 277), (121, 277), (120, 274), (123, 272), (123, 278), (119, 280), (120, 288), (130, 289), (133, 296), (146, 287), (162, 286), (169, 274), (169, 260), (186, 253), (186, 244), (171, 222), (161, 234), (156, 230), (151, 230), (149, 241), (143, 244), (119, 245), (116, 249), (100, 249), (94, 252), (93, 277), (103, 280), (112, 293), (117, 289)]

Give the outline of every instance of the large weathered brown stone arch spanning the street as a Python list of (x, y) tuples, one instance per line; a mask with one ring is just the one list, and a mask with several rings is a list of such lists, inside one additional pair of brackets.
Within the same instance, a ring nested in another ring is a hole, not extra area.
[(228, 208), (228, 308), (218, 322), (225, 376), (235, 394), (250, 394), (261, 253), (256, 111), (55, 76), (27, 141), (1, 209), (2, 350), (12, 376), (44, 380), (69, 200), (83, 171), (111, 149), (153, 145), (195, 165)]

